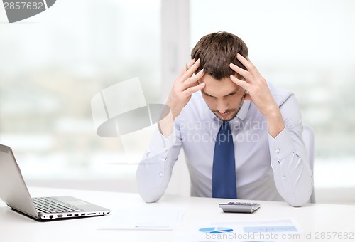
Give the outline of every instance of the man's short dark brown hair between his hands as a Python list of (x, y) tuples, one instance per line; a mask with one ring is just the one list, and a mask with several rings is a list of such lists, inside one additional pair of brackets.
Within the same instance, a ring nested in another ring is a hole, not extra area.
[(191, 58), (195, 61), (200, 58), (200, 67), (196, 73), (203, 69), (204, 74), (222, 80), (235, 74), (235, 71), (229, 68), (229, 63), (234, 63), (246, 70), (246, 67), (236, 58), (236, 53), (246, 58), (248, 47), (241, 38), (221, 31), (203, 36), (192, 49)]

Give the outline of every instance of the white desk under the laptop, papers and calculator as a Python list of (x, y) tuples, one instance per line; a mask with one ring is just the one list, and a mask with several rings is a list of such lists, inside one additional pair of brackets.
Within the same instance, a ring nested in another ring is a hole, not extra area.
[[(183, 225), (173, 231), (102, 231), (97, 228), (111, 219), (112, 215), (84, 219), (70, 219), (65, 221), (38, 222), (12, 211), (4, 202), (0, 201), (0, 241), (176, 241), (182, 233), (188, 233), (194, 221), (254, 221), (271, 219), (295, 218), (302, 230), (311, 234), (310, 239), (297, 241), (340, 241), (339, 239), (315, 239), (320, 233), (346, 232), (353, 234), (355, 241), (355, 206), (307, 204), (300, 208), (289, 206), (285, 202), (258, 201), (261, 209), (253, 214), (225, 214), (219, 209), (219, 202), (226, 199), (208, 199), (196, 197), (163, 196), (154, 204), (146, 204), (138, 194), (124, 194), (102, 191), (78, 191), (63, 189), (31, 188), (32, 196), (70, 195), (90, 201), (112, 210), (132, 208), (178, 208), (186, 211)], [(206, 241), (212, 241), (206, 239)], [(231, 240), (232, 241), (232, 240)]]

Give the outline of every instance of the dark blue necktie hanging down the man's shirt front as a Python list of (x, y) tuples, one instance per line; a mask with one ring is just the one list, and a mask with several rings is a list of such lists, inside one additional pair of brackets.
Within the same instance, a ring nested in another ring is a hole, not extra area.
[(212, 170), (212, 197), (236, 199), (236, 164), (229, 122), (223, 121), (216, 137)]

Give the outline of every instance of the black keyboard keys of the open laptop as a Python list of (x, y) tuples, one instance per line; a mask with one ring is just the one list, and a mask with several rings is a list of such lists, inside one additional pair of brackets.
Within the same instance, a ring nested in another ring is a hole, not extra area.
[(50, 199), (48, 197), (36, 197), (33, 198), (33, 204), (35, 204), (35, 209), (42, 213), (67, 213), (81, 211), (75, 206), (70, 206), (69, 204), (64, 204), (60, 201)]

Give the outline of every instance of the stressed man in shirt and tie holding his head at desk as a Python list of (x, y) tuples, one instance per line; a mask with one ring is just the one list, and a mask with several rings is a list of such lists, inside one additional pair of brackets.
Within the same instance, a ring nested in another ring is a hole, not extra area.
[(163, 196), (183, 148), (193, 196), (305, 204), (313, 179), (295, 95), (267, 83), (231, 33), (202, 37), (191, 58), (138, 166), (142, 198)]

